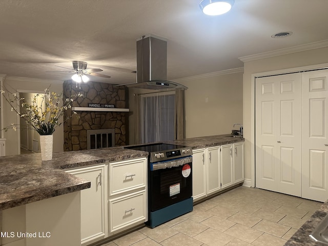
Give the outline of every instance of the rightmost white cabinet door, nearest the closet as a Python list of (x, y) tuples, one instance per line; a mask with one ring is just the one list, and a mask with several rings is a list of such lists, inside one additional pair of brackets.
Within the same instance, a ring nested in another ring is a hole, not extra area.
[(233, 144), (233, 171), (234, 183), (244, 181), (244, 143)]

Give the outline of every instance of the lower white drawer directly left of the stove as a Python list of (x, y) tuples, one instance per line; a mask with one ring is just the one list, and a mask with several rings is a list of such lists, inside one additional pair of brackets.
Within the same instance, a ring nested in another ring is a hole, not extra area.
[(147, 221), (146, 190), (109, 200), (110, 232)]

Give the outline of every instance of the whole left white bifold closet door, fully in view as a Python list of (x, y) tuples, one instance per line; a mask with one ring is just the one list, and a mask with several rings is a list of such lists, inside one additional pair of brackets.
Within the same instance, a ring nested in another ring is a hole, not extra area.
[(301, 74), (256, 78), (256, 187), (301, 196)]

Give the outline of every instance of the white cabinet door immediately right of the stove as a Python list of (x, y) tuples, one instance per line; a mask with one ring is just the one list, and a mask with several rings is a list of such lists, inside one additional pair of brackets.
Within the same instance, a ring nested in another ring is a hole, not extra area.
[(206, 197), (205, 149), (193, 150), (193, 199)]

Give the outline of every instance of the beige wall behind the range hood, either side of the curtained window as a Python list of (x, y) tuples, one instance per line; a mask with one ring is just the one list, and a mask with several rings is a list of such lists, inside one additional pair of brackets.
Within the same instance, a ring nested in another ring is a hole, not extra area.
[[(243, 73), (238, 71), (175, 80), (188, 87), (186, 138), (231, 133), (234, 124), (242, 123)], [(135, 93), (136, 89), (129, 89), (129, 144), (134, 144)]]

